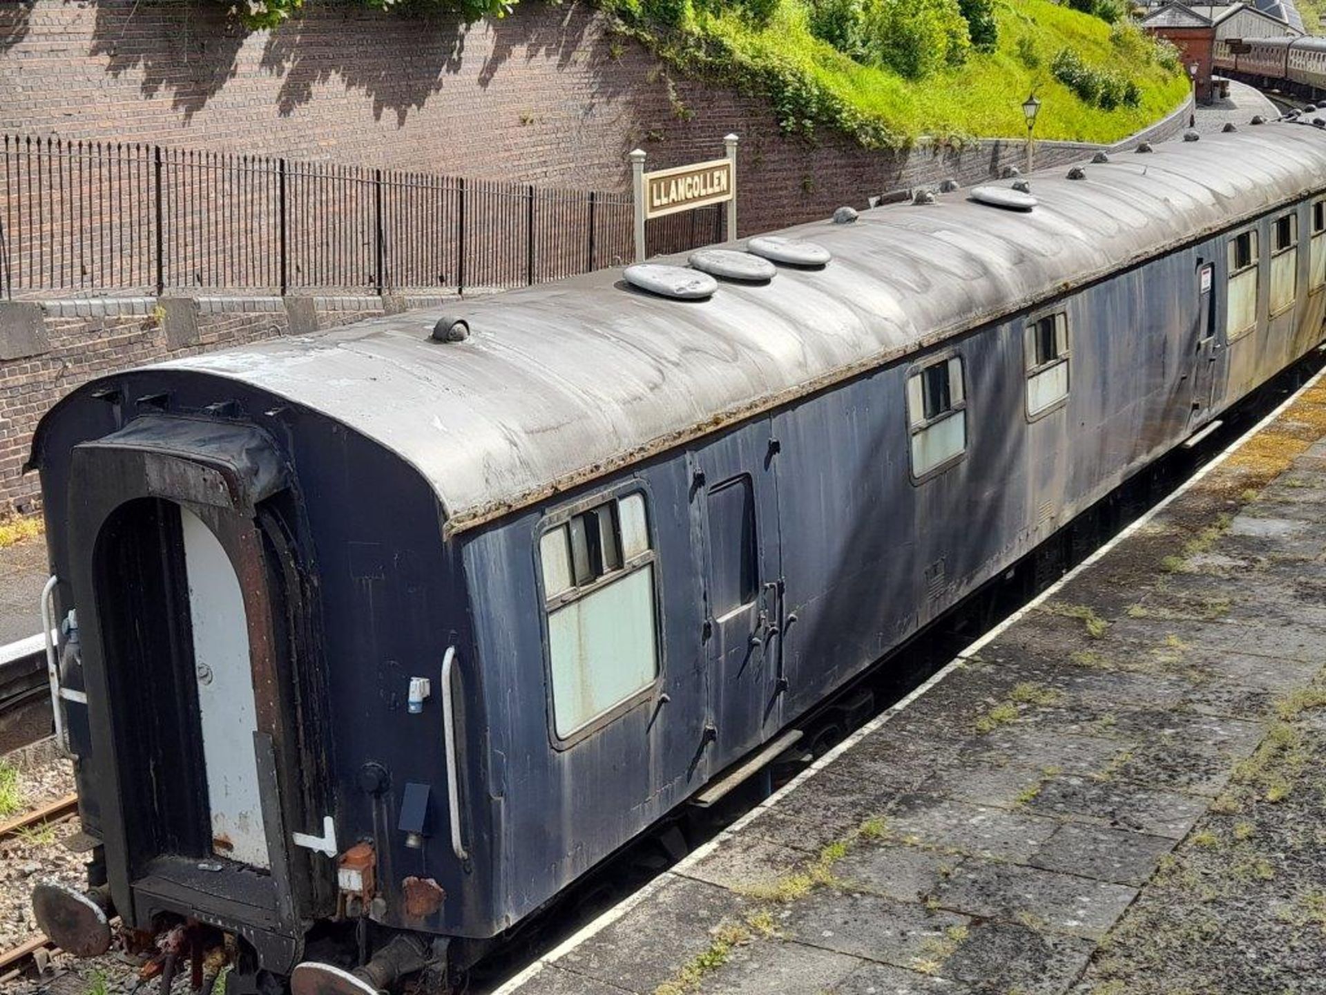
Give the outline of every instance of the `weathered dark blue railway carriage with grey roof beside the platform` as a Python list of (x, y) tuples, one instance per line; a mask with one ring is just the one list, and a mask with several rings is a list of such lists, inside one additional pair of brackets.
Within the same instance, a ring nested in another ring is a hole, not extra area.
[(703, 300), (609, 271), (81, 387), (33, 463), (95, 848), (42, 926), (232, 994), (464, 968), (1317, 346), (1323, 186), (1272, 123)]

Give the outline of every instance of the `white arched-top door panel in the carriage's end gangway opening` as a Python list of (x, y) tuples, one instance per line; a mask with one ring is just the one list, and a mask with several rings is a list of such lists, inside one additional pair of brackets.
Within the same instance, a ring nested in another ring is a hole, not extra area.
[(187, 508), (180, 508), (179, 517), (212, 840), (231, 842), (228, 849), (216, 846), (215, 853), (271, 868), (253, 754), (257, 718), (240, 581), (225, 549), (202, 519)]

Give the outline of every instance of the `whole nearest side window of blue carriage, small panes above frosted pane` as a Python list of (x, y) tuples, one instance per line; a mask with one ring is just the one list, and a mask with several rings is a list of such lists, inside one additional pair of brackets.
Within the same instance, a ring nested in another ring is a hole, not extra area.
[(565, 739), (658, 677), (644, 495), (577, 512), (538, 540), (553, 726)]

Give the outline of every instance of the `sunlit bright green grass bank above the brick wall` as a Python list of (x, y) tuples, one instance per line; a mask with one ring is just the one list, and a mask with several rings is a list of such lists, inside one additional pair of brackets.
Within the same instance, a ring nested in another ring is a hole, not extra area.
[[(1042, 101), (1037, 138), (1114, 142), (1164, 117), (1188, 93), (1172, 54), (1139, 31), (1111, 28), (1049, 0), (998, 0), (994, 49), (973, 49), (964, 64), (922, 78), (853, 58), (815, 37), (809, 0), (780, 0), (764, 23), (729, 5), (687, 7), (666, 28), (633, 0), (601, 4), (678, 69), (769, 98), (784, 130), (809, 137), (841, 130), (867, 147), (902, 147), (922, 137), (1020, 138), (1021, 102), (1032, 90)], [(1054, 72), (1065, 50), (1089, 72), (1126, 78), (1134, 102), (1106, 109), (1083, 100)]]

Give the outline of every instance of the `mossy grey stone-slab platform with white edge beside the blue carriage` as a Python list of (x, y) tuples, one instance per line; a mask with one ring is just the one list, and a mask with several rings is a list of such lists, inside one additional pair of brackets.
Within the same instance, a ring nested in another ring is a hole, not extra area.
[(503, 995), (1326, 991), (1326, 386)]

